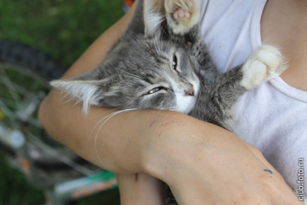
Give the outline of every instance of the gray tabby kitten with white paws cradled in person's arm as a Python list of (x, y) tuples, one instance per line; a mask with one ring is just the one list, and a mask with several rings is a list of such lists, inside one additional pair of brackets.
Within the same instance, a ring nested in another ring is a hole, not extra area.
[[(244, 64), (218, 74), (201, 37), (199, 17), (198, 0), (165, 0), (164, 8), (140, 0), (127, 31), (103, 63), (51, 85), (82, 102), (84, 112), (90, 106), (165, 109), (234, 131), (237, 98), (286, 67), (274, 47), (261, 46)], [(170, 190), (166, 204), (177, 204)]]

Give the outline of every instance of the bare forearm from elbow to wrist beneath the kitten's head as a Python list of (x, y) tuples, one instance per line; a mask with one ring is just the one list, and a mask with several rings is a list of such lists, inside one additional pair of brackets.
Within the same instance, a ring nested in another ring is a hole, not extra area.
[(147, 142), (156, 143), (153, 141), (161, 130), (148, 128), (154, 121), (163, 123), (172, 112), (131, 111), (108, 119), (114, 109), (91, 108), (85, 116), (81, 106), (53, 91), (41, 105), (43, 127), (57, 141), (102, 168), (116, 173), (145, 172), (150, 158)]

